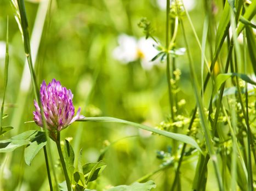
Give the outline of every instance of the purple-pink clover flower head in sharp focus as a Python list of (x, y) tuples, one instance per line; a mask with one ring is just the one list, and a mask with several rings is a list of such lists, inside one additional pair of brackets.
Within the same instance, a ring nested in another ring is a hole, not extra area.
[[(70, 89), (62, 87), (55, 79), (46, 85), (42, 82), (40, 88), (40, 98), (47, 128), (51, 131), (61, 131), (76, 120), (84, 118), (80, 115), (81, 108), (78, 109), (76, 116), (75, 108), (72, 103), (73, 94)], [(43, 127), (41, 110), (36, 100), (34, 100), (36, 111), (33, 111), (34, 121)]]

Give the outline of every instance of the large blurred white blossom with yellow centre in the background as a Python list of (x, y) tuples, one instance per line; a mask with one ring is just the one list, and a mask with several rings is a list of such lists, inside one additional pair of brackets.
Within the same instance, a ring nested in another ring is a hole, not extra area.
[(121, 34), (118, 37), (118, 44), (119, 46), (113, 50), (113, 57), (124, 64), (139, 59), (141, 66), (145, 70), (149, 70), (154, 64), (159, 62), (159, 59), (153, 62), (151, 61), (159, 51), (153, 47), (156, 43), (150, 38), (145, 39), (144, 37), (137, 40), (135, 37)]

